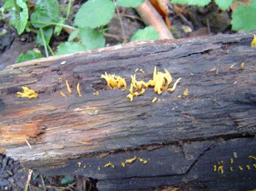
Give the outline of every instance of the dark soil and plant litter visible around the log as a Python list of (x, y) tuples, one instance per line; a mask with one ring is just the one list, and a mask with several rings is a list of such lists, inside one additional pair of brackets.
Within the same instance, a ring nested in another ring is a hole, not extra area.
[[(76, 0), (73, 6), (72, 15), (67, 21), (72, 24), (74, 15), (84, 1)], [(61, 6), (67, 6), (67, 0), (61, 0)], [(2, 2), (0, 2), (2, 6)], [(170, 6), (172, 7), (172, 6)], [(122, 21), (124, 23), (125, 33), (130, 38), (133, 33), (145, 27), (143, 22), (138, 19), (139, 16), (134, 9), (121, 8)], [(232, 33), (230, 30), (230, 11), (222, 12), (215, 4), (206, 7), (187, 6), (185, 13), (176, 15), (170, 8), (169, 19), (171, 20), (171, 32), (175, 38), (199, 37), (205, 35), (215, 35), (217, 33)], [(189, 26), (189, 27), (188, 27)], [(106, 45), (112, 46), (121, 43), (121, 26), (117, 15), (108, 24), (108, 33), (113, 34), (113, 38), (107, 37)], [(192, 30), (190, 32), (189, 30)], [(35, 43), (35, 34), (24, 32), (18, 36), (16, 30), (3, 20), (0, 20), (0, 70), (7, 65), (14, 64), (20, 53), (26, 53), (33, 48), (44, 52), (43, 47)], [(60, 36), (54, 36), (51, 39), (50, 46), (53, 50), (62, 42), (67, 41), (68, 34), (62, 31)], [(23, 168), (19, 161), (14, 161), (6, 155), (0, 155), (0, 191), (23, 191), (27, 179), (28, 169)], [(32, 174), (30, 181), (30, 191), (96, 191), (96, 180), (85, 177), (69, 177), (70, 185), (61, 185), (63, 176), (47, 177), (38, 174)], [(86, 188), (85, 188), (86, 185)], [(205, 190), (200, 185), (174, 185), (179, 187), (178, 191), (187, 190)], [(155, 188), (155, 190), (171, 190), (174, 187)]]

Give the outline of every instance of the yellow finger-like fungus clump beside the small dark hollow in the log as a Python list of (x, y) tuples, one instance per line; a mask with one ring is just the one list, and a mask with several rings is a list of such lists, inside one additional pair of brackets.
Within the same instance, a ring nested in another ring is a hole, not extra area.
[(115, 89), (115, 88), (122, 88), (122, 90), (125, 91), (127, 89), (127, 85), (125, 82), (125, 79), (120, 76), (115, 76), (115, 74), (107, 74), (105, 72), (105, 75), (101, 75), (101, 78), (104, 78), (107, 81), (108, 88), (109, 89)]

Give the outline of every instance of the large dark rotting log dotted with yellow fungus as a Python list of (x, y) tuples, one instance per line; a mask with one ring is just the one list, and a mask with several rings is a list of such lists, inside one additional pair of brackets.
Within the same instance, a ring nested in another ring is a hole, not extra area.
[[(1, 151), (45, 175), (97, 178), (101, 190), (255, 189), (252, 37), (147, 41), (11, 65), (0, 71)], [(175, 91), (156, 95), (149, 88), (130, 102), (128, 90), (108, 89), (101, 79), (107, 71), (129, 84), (139, 68), (145, 73), (137, 79), (148, 81), (154, 66), (182, 77)], [(17, 97), (22, 86), (38, 98)], [(177, 98), (187, 88), (189, 95)], [(121, 166), (134, 156), (147, 163)], [(108, 162), (115, 167), (104, 167)]]

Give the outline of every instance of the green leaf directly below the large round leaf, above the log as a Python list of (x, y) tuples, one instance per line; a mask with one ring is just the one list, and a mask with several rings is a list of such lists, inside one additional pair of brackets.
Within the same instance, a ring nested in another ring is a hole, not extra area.
[(106, 39), (103, 33), (95, 29), (86, 27), (80, 29), (79, 37), (88, 50), (101, 48), (105, 46)]

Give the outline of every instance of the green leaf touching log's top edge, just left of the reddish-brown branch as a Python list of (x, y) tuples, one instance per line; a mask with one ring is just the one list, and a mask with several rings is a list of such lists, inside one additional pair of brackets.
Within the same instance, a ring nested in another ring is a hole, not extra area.
[(147, 26), (144, 29), (138, 29), (130, 39), (132, 41), (139, 40), (157, 40), (159, 37), (159, 32), (157, 32), (154, 26)]

